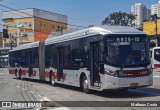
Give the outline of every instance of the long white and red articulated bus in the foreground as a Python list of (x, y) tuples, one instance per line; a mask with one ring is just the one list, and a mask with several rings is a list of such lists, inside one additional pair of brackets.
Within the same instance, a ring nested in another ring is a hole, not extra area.
[(146, 34), (130, 27), (90, 27), (9, 51), (9, 73), (90, 90), (153, 84)]

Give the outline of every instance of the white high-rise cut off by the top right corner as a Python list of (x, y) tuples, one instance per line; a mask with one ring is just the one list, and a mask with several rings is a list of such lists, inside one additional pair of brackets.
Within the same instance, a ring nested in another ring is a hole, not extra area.
[(151, 5), (151, 15), (157, 14), (160, 17), (160, 0), (158, 4)]

